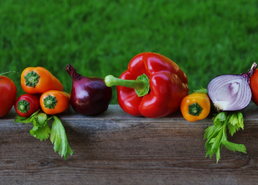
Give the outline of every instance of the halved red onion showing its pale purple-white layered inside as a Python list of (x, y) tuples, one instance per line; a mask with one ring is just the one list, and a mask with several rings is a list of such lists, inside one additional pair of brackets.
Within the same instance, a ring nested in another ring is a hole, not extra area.
[(213, 78), (208, 84), (208, 95), (217, 111), (238, 111), (247, 107), (252, 99), (250, 76), (257, 64), (245, 74), (225, 74)]

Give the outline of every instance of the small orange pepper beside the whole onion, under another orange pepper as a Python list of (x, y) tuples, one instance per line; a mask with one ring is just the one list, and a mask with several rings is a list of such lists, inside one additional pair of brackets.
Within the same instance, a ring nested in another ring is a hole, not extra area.
[(39, 102), (46, 114), (59, 114), (69, 108), (70, 95), (64, 91), (48, 90), (41, 95)]

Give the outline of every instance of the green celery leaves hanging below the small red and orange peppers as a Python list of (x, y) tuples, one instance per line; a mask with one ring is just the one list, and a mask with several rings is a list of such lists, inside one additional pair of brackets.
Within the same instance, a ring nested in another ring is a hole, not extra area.
[(48, 121), (52, 117), (49, 117), (47, 114), (41, 112), (41, 109), (36, 111), (29, 118), (24, 118), (22, 116), (16, 116), (16, 123), (32, 123), (34, 126), (29, 133), (40, 139), (41, 142), (50, 136), (50, 142), (54, 144), (54, 151), (58, 151), (59, 155), (64, 156), (64, 160), (67, 159), (68, 154), (72, 156), (72, 149), (69, 146), (67, 135), (65, 133), (62, 122), (57, 116), (53, 116), (54, 121), (52, 123), (52, 128), (48, 126)]

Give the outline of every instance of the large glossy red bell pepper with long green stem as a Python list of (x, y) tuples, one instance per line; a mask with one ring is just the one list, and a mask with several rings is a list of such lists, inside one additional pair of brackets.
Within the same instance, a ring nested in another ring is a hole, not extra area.
[(107, 86), (117, 85), (118, 104), (133, 116), (158, 118), (174, 113), (189, 94), (184, 71), (168, 57), (140, 53), (119, 78), (106, 76)]

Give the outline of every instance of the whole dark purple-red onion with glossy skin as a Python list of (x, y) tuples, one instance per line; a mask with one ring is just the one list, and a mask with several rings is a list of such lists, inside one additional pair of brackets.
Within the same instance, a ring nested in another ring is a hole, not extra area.
[(106, 111), (112, 97), (112, 89), (104, 84), (104, 79), (81, 76), (71, 64), (68, 64), (66, 69), (72, 76), (70, 102), (74, 111), (86, 116)]

